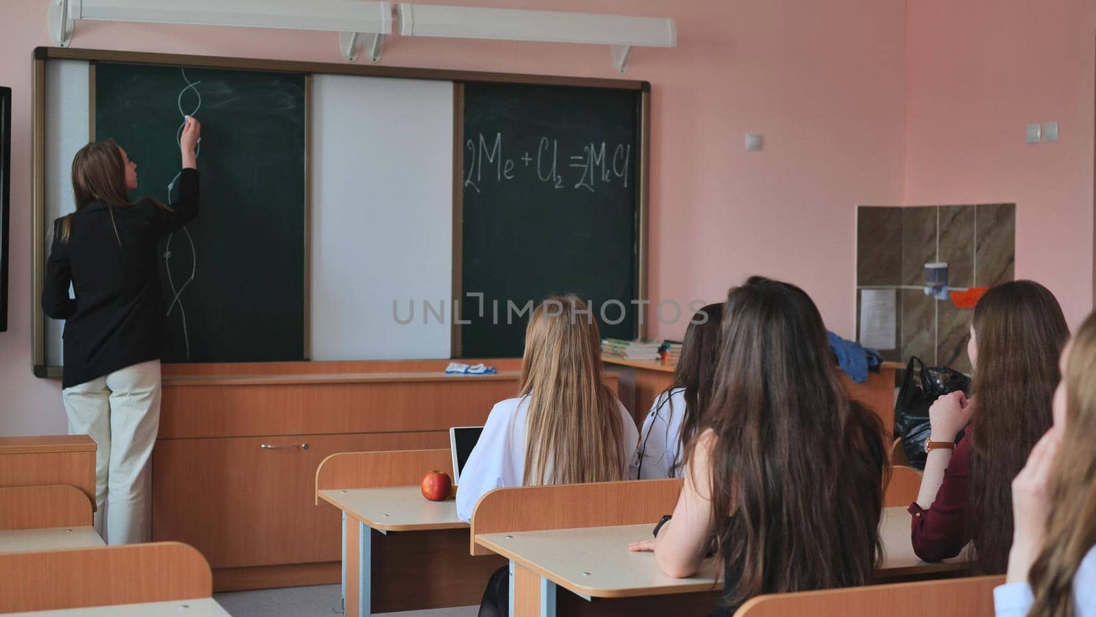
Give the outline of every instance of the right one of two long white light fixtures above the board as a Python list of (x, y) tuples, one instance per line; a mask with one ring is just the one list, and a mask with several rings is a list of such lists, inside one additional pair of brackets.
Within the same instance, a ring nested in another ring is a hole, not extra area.
[(627, 70), (632, 47), (676, 47), (672, 18), (637, 18), (522, 9), (399, 4), (400, 34), (496, 41), (610, 45), (613, 63)]

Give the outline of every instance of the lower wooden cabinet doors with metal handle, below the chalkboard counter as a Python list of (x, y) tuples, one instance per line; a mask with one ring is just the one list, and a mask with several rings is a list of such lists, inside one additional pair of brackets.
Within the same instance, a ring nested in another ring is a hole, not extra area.
[(161, 440), (153, 540), (192, 545), (214, 569), (339, 561), (339, 512), (313, 503), (320, 461), (335, 452), (443, 448), (448, 440), (444, 431)]

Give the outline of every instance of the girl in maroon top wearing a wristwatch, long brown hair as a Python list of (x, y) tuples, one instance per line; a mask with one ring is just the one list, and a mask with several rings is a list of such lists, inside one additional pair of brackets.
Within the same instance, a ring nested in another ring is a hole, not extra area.
[[(956, 557), (972, 542), (978, 570), (1005, 571), (1013, 537), (1009, 486), (1050, 428), (1058, 357), (1069, 335), (1053, 294), (1032, 281), (997, 285), (974, 307), (967, 345), (974, 396), (946, 394), (928, 411), (933, 447), (910, 505), (921, 559)], [(948, 445), (963, 428), (952, 451)]]

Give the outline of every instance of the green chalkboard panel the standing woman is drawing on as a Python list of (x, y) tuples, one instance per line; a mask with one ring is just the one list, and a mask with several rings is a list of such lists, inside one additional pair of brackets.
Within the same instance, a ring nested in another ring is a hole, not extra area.
[(134, 197), (178, 199), (183, 115), (202, 122), (198, 216), (158, 250), (164, 361), (304, 359), (305, 79), (94, 65), (95, 138), (137, 164)]

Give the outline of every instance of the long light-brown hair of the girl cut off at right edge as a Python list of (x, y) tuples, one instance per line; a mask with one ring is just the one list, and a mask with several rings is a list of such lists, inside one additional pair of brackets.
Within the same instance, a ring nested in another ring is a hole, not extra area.
[(1073, 617), (1073, 577), (1096, 546), (1096, 313), (1081, 326), (1065, 367), (1065, 427), (1051, 471), (1046, 542), (1031, 565), (1028, 615)]

